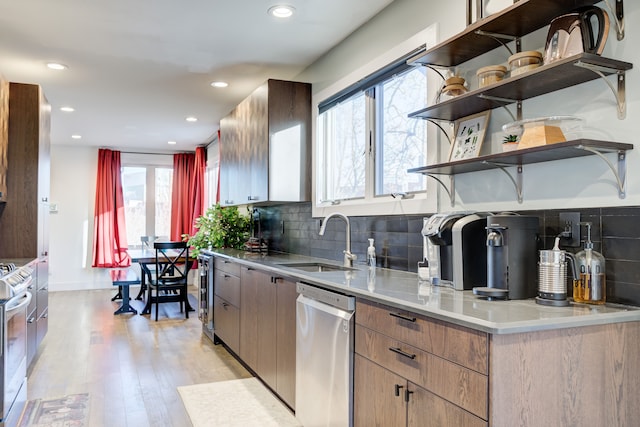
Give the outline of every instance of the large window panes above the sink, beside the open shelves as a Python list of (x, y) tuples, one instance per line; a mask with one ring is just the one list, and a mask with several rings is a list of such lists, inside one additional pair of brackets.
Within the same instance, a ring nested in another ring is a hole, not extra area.
[[(412, 54), (415, 54), (412, 53)], [(316, 201), (320, 204), (426, 190), (407, 169), (426, 164), (426, 68), (406, 57), (319, 105)]]

